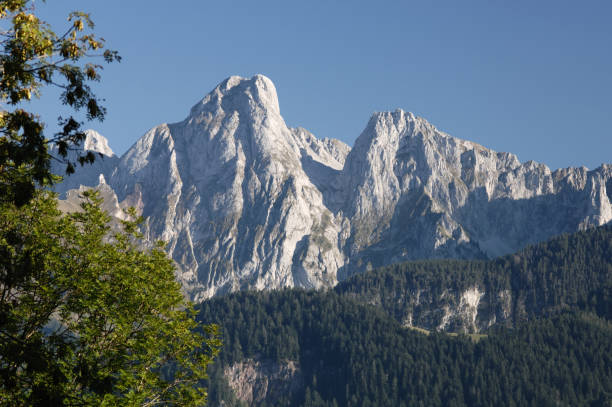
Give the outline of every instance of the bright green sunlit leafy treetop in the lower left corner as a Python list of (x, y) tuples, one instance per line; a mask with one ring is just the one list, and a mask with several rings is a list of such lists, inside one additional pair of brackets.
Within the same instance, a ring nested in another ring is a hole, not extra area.
[(196, 331), (163, 244), (141, 249), (137, 223), (113, 231), (100, 204), (1, 206), (0, 404), (201, 405), (216, 327)]

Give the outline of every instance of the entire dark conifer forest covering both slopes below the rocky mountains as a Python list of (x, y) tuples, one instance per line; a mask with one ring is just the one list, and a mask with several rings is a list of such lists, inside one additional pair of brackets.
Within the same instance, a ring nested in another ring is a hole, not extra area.
[[(293, 361), (299, 374), (288, 380), (297, 385), (254, 404), (610, 405), (611, 261), (612, 228), (601, 227), (489, 262), (406, 263), (327, 292), (241, 292), (206, 301), (199, 318), (218, 323), (224, 341), (210, 370), (210, 403), (240, 405), (226, 367)], [(405, 304), (397, 299), (414, 288), (437, 293), (474, 284), (509, 289), (513, 298), (512, 317), (480, 340), (401, 325)]]

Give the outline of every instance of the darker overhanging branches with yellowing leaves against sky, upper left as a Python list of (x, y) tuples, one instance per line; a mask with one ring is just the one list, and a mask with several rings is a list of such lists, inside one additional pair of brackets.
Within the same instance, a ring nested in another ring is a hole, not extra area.
[(105, 109), (88, 85), (100, 80), (102, 67), (83, 60), (120, 60), (91, 32), (88, 14), (71, 13), (68, 29), (58, 35), (34, 11), (32, 0), (0, 0), (0, 200), (18, 205), (33, 196), (36, 185), (53, 181), (50, 145), (56, 146), (55, 158), (65, 162), (68, 173), (76, 161), (82, 165), (95, 159), (91, 152), (78, 154), (76, 161), (67, 158), (85, 138), (77, 118), (60, 118), (61, 130), (45, 138), (39, 117), (21, 106), (45, 86), (57, 86), (64, 105), (82, 111), (87, 120), (102, 120)]

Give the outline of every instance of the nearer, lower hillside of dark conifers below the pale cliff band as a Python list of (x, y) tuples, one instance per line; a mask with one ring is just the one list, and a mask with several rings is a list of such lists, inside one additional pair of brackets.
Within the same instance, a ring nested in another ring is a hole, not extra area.
[(201, 316), (224, 331), (212, 405), (233, 398), (222, 371), (247, 362), (253, 371), (262, 361), (279, 372), (296, 368), (285, 383), (246, 384), (251, 405), (602, 405), (612, 398), (612, 326), (592, 314), (538, 320), (477, 343), (404, 329), (333, 292), (240, 293), (205, 303)]

